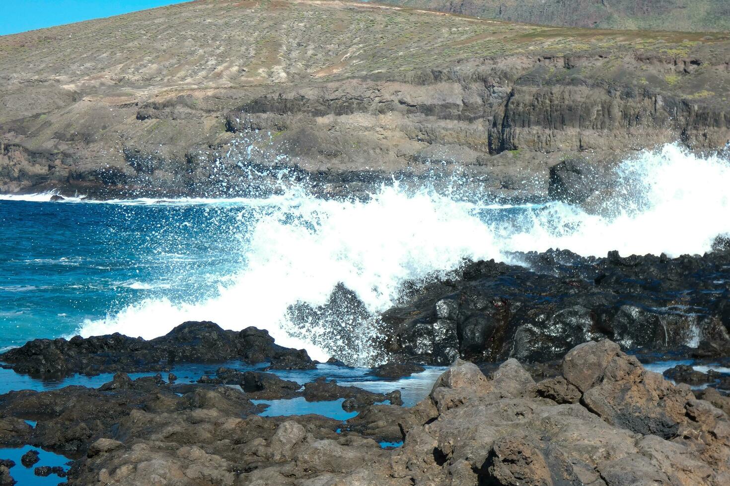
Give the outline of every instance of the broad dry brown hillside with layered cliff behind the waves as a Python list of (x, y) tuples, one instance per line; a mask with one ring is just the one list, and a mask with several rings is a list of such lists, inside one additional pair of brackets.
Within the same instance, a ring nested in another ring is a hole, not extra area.
[(283, 165), (338, 192), (461, 162), (539, 196), (564, 157), (724, 146), (729, 91), (726, 34), (194, 1), (0, 37), (0, 192), (245, 193)]

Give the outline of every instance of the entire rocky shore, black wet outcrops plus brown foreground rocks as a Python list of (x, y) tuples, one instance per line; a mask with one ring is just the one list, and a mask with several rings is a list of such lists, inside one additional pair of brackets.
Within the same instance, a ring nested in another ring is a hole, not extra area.
[[(451, 365), (413, 407), (401, 406), (406, 382), (288, 380), (277, 373), (318, 363), (254, 327), (188, 322), (149, 341), (34, 340), (0, 355), (39, 380), (115, 373), (97, 388), (0, 395), (0, 445), (65, 455), (67, 471), (31, 466), (69, 485), (727, 484), (729, 376), (642, 366), (728, 367), (726, 241), (677, 259), (513, 256), (526, 266), (467, 263), (383, 314), (389, 363), (373, 380)], [(169, 372), (183, 363), (218, 365), (184, 383)], [(351, 415), (259, 415), (286, 400)], [(0, 484), (26, 467), (12, 462)]]

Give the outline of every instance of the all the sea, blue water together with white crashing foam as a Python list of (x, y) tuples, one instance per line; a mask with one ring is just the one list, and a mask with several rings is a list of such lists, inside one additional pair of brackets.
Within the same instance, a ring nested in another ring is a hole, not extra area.
[[(74, 334), (152, 338), (209, 320), (268, 329), (312, 358), (371, 364), (377, 313), (405, 282), (464, 258), (508, 261), (509, 251), (548, 248), (702, 254), (730, 233), (727, 160), (669, 145), (617, 171), (621, 184), (602, 215), (397, 183), (365, 201), (323, 200), (300, 187), (260, 199), (0, 196), (0, 348)], [(361, 307), (293, 318), (293, 305), (324, 305), (342, 286)]]

